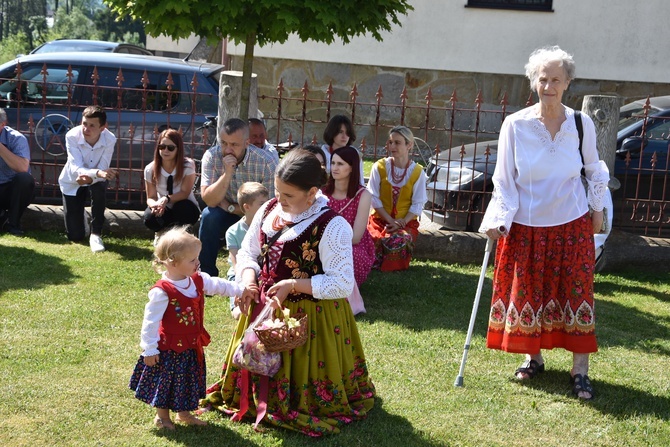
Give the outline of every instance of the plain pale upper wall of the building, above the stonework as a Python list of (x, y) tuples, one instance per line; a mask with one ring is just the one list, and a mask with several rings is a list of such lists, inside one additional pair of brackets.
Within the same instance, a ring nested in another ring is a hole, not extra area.
[[(414, 11), (383, 41), (301, 42), (257, 47), (256, 56), (420, 70), (521, 75), (535, 48), (573, 53), (577, 77), (667, 82), (666, 0), (554, 0), (553, 12), (467, 8), (466, 0), (413, 0)], [(228, 46), (243, 55), (244, 46)]]

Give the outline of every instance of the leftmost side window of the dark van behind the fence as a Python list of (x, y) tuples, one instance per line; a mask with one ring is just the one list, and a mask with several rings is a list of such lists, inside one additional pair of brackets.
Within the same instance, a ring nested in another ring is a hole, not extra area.
[(67, 66), (50, 65), (46, 73), (42, 72), (42, 68), (42, 65), (37, 64), (23, 65), (21, 86), (18, 89), (15, 66), (0, 73), (0, 96), (9, 101), (18, 101), (20, 91), (21, 104), (24, 107), (28, 104), (42, 105), (44, 99), (49, 103), (47, 108), (67, 103), (68, 94), (75, 94), (80, 68), (72, 67), (69, 70)]

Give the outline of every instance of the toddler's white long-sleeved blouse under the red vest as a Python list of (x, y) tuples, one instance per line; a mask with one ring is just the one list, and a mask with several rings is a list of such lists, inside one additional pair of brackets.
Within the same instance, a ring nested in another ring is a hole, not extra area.
[[(200, 272), (203, 279), (203, 290), (205, 295), (221, 296), (241, 296), (243, 288), (233, 281), (228, 281), (216, 276), (209, 276), (205, 272)], [(181, 281), (173, 281), (163, 273), (165, 281), (169, 281), (188, 298), (197, 298), (198, 293), (195, 284), (191, 278), (184, 278)], [(142, 356), (158, 355), (158, 342), (160, 335), (158, 329), (163, 319), (163, 314), (168, 306), (167, 293), (161, 288), (152, 287), (149, 290), (149, 302), (144, 307), (144, 319), (142, 320), (142, 332), (140, 333), (140, 347), (143, 349)]]

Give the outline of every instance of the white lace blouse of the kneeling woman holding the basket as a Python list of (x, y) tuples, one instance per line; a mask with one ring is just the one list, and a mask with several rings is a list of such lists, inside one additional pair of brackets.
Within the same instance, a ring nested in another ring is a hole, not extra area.
[[(237, 253), (236, 278), (238, 278), (238, 281), (242, 280), (242, 272), (246, 269), (253, 269), (257, 276), (260, 273), (257, 258), (261, 253), (259, 238), (261, 228), (270, 238), (277, 232), (272, 228), (275, 216), (278, 215), (285, 221), (299, 222), (286, 230), (275, 242), (274, 245), (281, 248), (285, 242), (292, 241), (300, 236), (317, 217), (326, 212), (322, 208), (328, 204), (328, 198), (318, 192), (314, 204), (297, 216), (285, 213), (282, 211), (281, 205), (277, 204), (263, 220), (263, 214), (268, 203), (265, 203), (256, 213), (242, 242), (242, 248)], [(319, 242), (319, 258), (324, 273), (314, 275), (311, 278), (312, 296), (314, 298), (338, 299), (351, 294), (356, 282), (351, 248), (352, 237), (351, 226), (342, 216), (334, 217), (324, 229), (323, 237)], [(277, 261), (271, 258), (270, 269), (274, 267), (273, 262), (276, 263)]]

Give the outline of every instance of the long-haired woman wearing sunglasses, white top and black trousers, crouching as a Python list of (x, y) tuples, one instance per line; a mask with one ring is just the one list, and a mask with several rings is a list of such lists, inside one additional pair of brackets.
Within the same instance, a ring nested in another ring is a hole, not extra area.
[(184, 157), (184, 140), (175, 129), (166, 129), (156, 139), (154, 161), (144, 168), (147, 209), (144, 225), (156, 232), (175, 225), (193, 225), (200, 208), (193, 194), (195, 162)]

